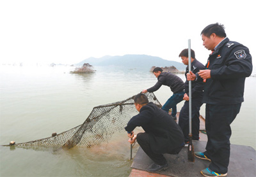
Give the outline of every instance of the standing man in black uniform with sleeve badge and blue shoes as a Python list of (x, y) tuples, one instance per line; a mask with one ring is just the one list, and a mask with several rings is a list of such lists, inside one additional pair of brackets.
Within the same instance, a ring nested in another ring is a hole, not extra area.
[(224, 26), (211, 24), (201, 32), (203, 45), (212, 53), (205, 70), (187, 75), (188, 80), (205, 81), (203, 103), (207, 145), (195, 152), (200, 159), (211, 160), (204, 176), (227, 176), (230, 157), (230, 124), (244, 101), (244, 81), (252, 73), (252, 56), (246, 46), (230, 41)]

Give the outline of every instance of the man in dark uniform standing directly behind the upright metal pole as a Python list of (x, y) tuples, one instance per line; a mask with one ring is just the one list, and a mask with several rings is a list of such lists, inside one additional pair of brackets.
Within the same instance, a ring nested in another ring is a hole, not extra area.
[[(180, 52), (179, 57), (181, 57), (182, 62), (188, 66), (188, 48), (182, 50)], [(191, 71), (193, 73), (197, 73), (199, 70), (205, 69), (204, 65), (198, 60), (195, 59), (195, 52), (191, 49)], [(186, 74), (188, 73), (188, 67), (186, 67)], [(199, 110), (202, 106), (202, 98), (204, 94), (204, 83), (203, 82), (192, 82), (192, 139), (198, 140), (199, 139), (199, 127), (200, 127), (200, 120), (199, 120)], [(185, 100), (184, 106), (180, 110), (179, 115), (179, 125), (184, 134), (184, 142), (188, 145), (188, 134), (189, 134), (189, 81), (185, 81), (185, 94), (183, 99)]]

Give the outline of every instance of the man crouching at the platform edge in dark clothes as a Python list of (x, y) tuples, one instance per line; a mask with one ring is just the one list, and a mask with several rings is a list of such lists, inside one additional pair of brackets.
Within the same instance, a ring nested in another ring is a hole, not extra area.
[[(129, 120), (125, 131), (129, 142), (137, 139), (143, 151), (154, 161), (148, 171), (159, 171), (168, 168), (163, 153), (177, 154), (184, 146), (184, 136), (179, 125), (154, 103), (148, 103), (144, 94), (134, 97), (136, 110), (140, 113)], [(133, 130), (141, 126), (145, 132), (134, 135)]]

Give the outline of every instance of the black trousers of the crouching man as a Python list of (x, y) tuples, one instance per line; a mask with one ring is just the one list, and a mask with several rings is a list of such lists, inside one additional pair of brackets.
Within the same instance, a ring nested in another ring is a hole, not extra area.
[[(163, 154), (161, 153), (154, 153), (150, 148), (149, 143), (149, 134), (146, 132), (138, 133), (137, 134), (137, 141), (143, 151), (148, 155), (150, 159), (152, 159), (157, 165), (163, 166), (167, 163), (166, 159), (164, 158)], [(170, 151), (170, 154), (178, 154), (183, 146), (180, 146), (179, 148), (175, 148), (174, 150)], [(168, 152), (169, 153), (169, 152)]]

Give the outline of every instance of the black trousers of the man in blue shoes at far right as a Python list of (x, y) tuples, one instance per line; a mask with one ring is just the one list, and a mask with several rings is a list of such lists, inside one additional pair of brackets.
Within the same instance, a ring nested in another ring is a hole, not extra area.
[(209, 168), (216, 173), (227, 173), (230, 157), (230, 124), (241, 108), (239, 104), (206, 104), (205, 129), (207, 145), (204, 152), (211, 159)]

